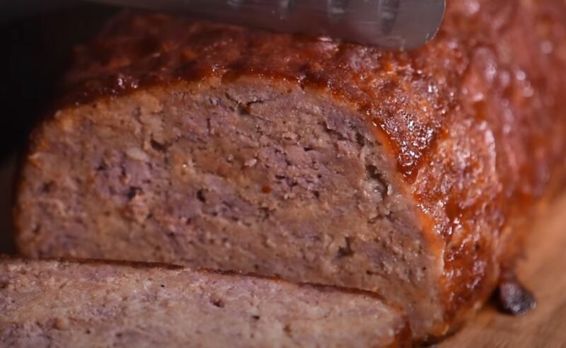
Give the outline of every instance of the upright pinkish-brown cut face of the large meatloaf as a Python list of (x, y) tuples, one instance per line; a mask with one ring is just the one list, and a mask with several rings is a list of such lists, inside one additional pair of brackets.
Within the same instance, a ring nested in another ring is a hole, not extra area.
[(22, 217), (33, 216), (20, 235), (25, 255), (383, 287), (410, 306), (423, 301), (431, 319), (441, 313), (441, 260), (393, 163), (348, 105), (238, 79), (64, 113), (37, 143), (47, 148), (24, 184), (35, 188), (20, 196)]

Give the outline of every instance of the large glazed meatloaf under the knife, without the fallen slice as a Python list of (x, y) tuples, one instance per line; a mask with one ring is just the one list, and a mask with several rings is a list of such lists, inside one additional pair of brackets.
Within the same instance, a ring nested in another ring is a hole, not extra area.
[(420, 340), (513, 267), (564, 162), (566, 3), (451, 0), (415, 52), (124, 13), (66, 86), (25, 158), (23, 254), (379, 289)]

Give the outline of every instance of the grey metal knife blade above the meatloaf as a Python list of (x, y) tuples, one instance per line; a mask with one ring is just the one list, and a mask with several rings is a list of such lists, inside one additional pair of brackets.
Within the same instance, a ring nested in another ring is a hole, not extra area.
[(187, 14), (280, 33), (333, 37), (391, 50), (432, 40), (445, 0), (94, 0)]

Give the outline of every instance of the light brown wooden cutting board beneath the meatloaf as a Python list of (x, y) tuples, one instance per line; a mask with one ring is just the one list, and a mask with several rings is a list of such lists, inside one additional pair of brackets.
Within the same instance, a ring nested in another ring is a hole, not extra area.
[[(9, 206), (14, 161), (0, 165), (0, 253), (13, 248)], [(4, 233), (1, 233), (4, 231)], [(538, 300), (521, 318), (487, 304), (468, 325), (437, 348), (566, 348), (566, 197), (541, 216), (532, 231), (519, 277)]]

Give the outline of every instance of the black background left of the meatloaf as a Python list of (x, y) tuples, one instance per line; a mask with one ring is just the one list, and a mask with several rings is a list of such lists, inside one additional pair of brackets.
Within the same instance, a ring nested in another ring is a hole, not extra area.
[(13, 171), (30, 129), (57, 98), (58, 81), (72, 62), (74, 45), (96, 35), (116, 11), (74, 2), (0, 16), (0, 254), (14, 249)]

